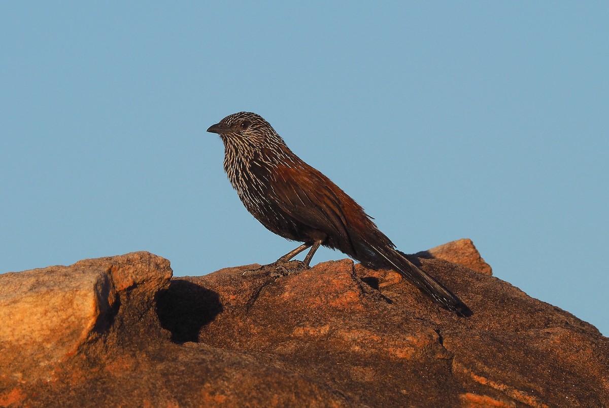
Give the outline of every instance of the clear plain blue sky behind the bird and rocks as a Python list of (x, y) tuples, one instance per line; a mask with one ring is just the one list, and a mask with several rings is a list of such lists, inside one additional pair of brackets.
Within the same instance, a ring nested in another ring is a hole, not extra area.
[[(609, 3), (3, 2), (0, 272), (269, 263), (206, 128), (261, 114), (405, 252), (609, 333)], [(344, 256), (319, 251), (314, 263)]]

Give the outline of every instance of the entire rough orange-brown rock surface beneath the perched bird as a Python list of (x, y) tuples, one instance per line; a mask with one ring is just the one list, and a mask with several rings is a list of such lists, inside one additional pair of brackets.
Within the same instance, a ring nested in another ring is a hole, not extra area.
[(419, 261), (468, 318), (350, 260), (170, 280), (136, 252), (0, 275), (0, 406), (609, 406), (609, 339), (440, 259), (481, 266), (458, 242)]

